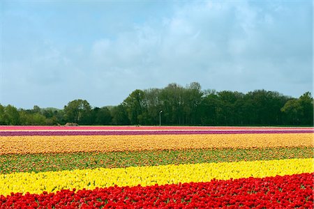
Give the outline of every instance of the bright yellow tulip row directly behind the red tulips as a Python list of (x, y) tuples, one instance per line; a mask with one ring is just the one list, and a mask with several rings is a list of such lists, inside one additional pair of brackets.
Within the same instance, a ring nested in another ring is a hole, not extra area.
[(208, 182), (213, 178), (227, 180), (251, 176), (255, 178), (283, 176), (314, 172), (313, 162), (313, 158), (308, 158), (10, 173), (0, 175), (0, 194), (6, 195), (10, 192), (40, 194), (43, 191), (57, 192), (61, 189), (73, 188), (94, 189), (95, 187), (110, 187), (113, 185), (165, 185)]

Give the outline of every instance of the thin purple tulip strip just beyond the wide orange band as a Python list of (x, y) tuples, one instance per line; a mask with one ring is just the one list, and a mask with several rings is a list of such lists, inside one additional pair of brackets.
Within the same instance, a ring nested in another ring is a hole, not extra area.
[(75, 135), (151, 135), (151, 134), (286, 134), (314, 133), (313, 130), (141, 130), (141, 131), (0, 131), (1, 137)]

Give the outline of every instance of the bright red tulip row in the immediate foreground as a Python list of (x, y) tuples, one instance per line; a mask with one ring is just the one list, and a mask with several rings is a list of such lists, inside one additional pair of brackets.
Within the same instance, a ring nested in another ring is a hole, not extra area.
[(0, 208), (313, 208), (314, 173), (0, 196)]

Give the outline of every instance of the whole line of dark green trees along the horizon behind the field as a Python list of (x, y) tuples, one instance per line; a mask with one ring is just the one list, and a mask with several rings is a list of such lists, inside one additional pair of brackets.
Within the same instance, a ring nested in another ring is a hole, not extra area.
[(0, 125), (310, 125), (313, 98), (306, 92), (292, 98), (276, 91), (202, 91), (197, 82), (186, 87), (135, 90), (114, 107), (91, 107), (73, 100), (63, 109), (17, 109), (0, 104)]

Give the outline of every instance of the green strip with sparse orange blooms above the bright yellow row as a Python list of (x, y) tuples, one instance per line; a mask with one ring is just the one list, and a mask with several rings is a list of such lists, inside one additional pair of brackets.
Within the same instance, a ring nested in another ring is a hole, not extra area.
[(63, 171), (313, 157), (313, 147), (143, 150), (0, 155), (0, 173)]

